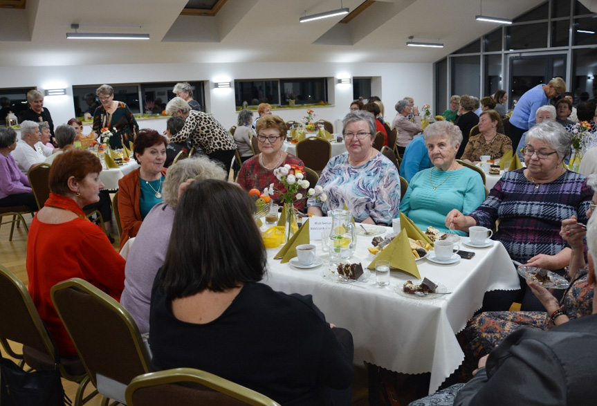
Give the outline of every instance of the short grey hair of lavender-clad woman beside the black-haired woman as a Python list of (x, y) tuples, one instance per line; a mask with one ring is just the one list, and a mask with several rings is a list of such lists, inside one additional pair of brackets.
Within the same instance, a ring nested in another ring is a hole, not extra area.
[(195, 179), (203, 181), (205, 179), (223, 179), (226, 178), (224, 169), (205, 156), (198, 156), (178, 160), (170, 165), (166, 172), (164, 181), (164, 201), (167, 205), (176, 209), (178, 203), (178, 186), (187, 181)]

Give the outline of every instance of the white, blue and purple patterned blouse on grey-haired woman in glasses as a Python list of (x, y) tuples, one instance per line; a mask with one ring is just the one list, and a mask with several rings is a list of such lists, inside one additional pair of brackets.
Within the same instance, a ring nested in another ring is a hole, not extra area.
[(327, 195), (327, 201), (309, 199), (308, 206), (320, 206), (324, 214), (346, 203), (356, 221), (371, 217), (389, 224), (400, 206), (400, 176), (391, 160), (376, 154), (369, 162), (353, 167), (348, 152), (333, 156), (317, 183)]

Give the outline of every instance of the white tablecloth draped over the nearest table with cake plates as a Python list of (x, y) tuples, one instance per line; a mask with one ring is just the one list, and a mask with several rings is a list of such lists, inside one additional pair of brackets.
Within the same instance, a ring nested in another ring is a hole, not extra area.
[[(351, 261), (365, 267), (374, 259), (367, 251), (371, 237), (358, 239)], [(324, 264), (310, 270), (280, 264), (273, 259), (279, 248), (268, 248), (269, 270), (264, 283), (286, 293), (313, 295), (313, 302), (328, 322), (352, 333), (356, 359), (401, 373), (431, 372), (430, 394), (463, 361), (455, 334), (481, 307), (484, 293), (520, 288), (512, 261), (499, 242), (484, 249), (461, 246), (475, 252), (475, 257), (452, 265), (440, 266), (427, 259), (417, 262), (421, 278), (428, 277), (453, 292), (439, 299), (395, 293), (394, 286), (413, 279), (401, 272), (392, 272), (391, 285), (386, 288), (374, 284), (375, 273), (367, 283), (339, 284), (324, 279), (328, 256), (321, 252), (320, 241), (312, 243)]]

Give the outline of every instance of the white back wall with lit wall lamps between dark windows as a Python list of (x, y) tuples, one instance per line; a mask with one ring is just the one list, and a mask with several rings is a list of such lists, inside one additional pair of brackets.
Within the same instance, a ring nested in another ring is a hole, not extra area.
[[(224, 127), (236, 124), (234, 86), (214, 89), (213, 82), (233, 82), (235, 79), (273, 79), (278, 77), (328, 77), (333, 80), (333, 107), (315, 108), (318, 118), (331, 122), (345, 116), (353, 100), (351, 84), (336, 84), (340, 77), (381, 77), (376, 80), (376, 92), (384, 103), (385, 118), (395, 116), (394, 104), (404, 96), (414, 98), (419, 106), (430, 104), (433, 110), (432, 64), (329, 64), (329, 63), (253, 63), (253, 64), (120, 64), (90, 66), (24, 66), (1, 67), (0, 87), (37, 86), (37, 89), (66, 88), (66, 95), (48, 96), (44, 106), (52, 114), (55, 125), (75, 114), (73, 85), (124, 84), (140, 82), (178, 82), (205, 80), (207, 111), (213, 113)], [(380, 89), (380, 91), (378, 91)], [(304, 109), (275, 111), (284, 120), (300, 120)]]

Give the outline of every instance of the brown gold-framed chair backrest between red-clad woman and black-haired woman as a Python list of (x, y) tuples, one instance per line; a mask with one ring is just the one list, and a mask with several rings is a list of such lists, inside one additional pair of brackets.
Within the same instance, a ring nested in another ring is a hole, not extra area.
[(56, 284), (50, 295), (95, 387), (98, 374), (128, 385), (151, 371), (139, 329), (115, 299), (80, 278)]

